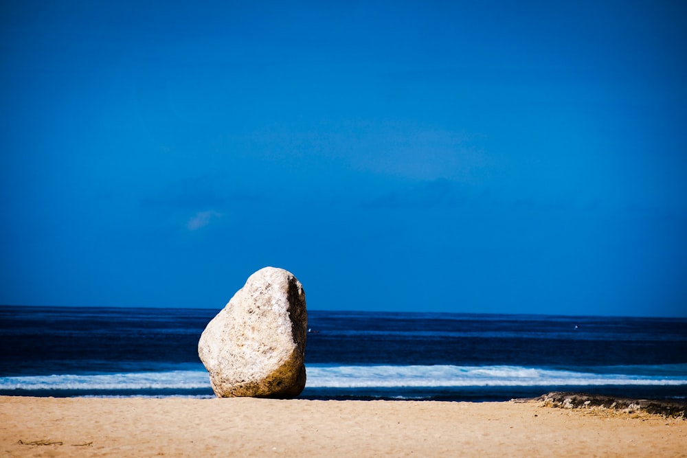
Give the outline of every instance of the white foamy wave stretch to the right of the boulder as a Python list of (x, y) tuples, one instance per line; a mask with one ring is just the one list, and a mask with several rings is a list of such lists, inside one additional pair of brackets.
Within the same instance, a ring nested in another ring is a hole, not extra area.
[(390, 388), (547, 385), (687, 385), (687, 376), (657, 378), (519, 366), (308, 366), (307, 386), (311, 388)]

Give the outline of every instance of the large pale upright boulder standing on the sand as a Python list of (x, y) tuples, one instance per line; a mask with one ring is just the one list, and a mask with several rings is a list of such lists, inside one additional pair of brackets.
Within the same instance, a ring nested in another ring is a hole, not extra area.
[(308, 314), (303, 286), (265, 267), (248, 277), (210, 323), (198, 354), (220, 398), (294, 398), (305, 387)]

